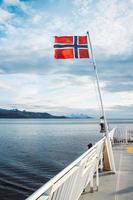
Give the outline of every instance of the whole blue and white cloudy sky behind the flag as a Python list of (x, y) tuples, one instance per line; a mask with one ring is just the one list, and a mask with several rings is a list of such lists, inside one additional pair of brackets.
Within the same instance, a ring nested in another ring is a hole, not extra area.
[(90, 32), (108, 117), (133, 117), (133, 0), (0, 0), (0, 108), (99, 117), (91, 59), (55, 60), (53, 36)]

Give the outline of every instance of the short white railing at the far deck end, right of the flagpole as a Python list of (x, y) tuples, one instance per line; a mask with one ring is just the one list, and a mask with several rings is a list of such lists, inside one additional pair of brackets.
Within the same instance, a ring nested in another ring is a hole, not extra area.
[(117, 144), (128, 144), (133, 142), (133, 126), (117, 127), (114, 131), (113, 141)]

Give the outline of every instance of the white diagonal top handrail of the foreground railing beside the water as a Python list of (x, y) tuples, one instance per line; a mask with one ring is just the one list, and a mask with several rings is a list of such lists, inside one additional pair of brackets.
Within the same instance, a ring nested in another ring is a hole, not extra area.
[(51, 180), (45, 183), (42, 187), (40, 187), (37, 191), (35, 191), (32, 195), (30, 195), (26, 200), (35, 200), (39, 198), (45, 191), (52, 187), (58, 180), (60, 180), (64, 175), (66, 175), (72, 168), (74, 168), (82, 159), (84, 159), (87, 155), (89, 155), (100, 143), (104, 142), (105, 137), (99, 140), (94, 146), (92, 146), (89, 150), (83, 153), (80, 157), (78, 157), (75, 161), (69, 164), (65, 169), (59, 172), (56, 176), (54, 176)]

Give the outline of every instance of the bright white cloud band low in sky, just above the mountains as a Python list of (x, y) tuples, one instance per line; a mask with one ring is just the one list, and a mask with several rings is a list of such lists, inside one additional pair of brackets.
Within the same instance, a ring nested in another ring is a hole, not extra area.
[[(8, 98), (1, 98), (0, 106), (47, 111), (53, 114), (91, 112), (92, 115), (100, 116), (100, 104), (94, 82), (93, 78), (87, 75), (83, 77), (70, 74), (58, 74), (58, 77), (54, 74), (1, 76), (0, 90), (7, 93)], [(116, 106), (132, 106), (133, 92), (108, 92), (105, 90), (106, 82), (100, 83), (107, 113), (113, 112)]]

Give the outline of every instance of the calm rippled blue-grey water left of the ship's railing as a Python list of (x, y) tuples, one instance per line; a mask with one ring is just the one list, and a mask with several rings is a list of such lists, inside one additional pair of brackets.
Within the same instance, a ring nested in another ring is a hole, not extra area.
[(89, 120), (1, 119), (0, 200), (25, 199), (99, 140), (98, 130)]

